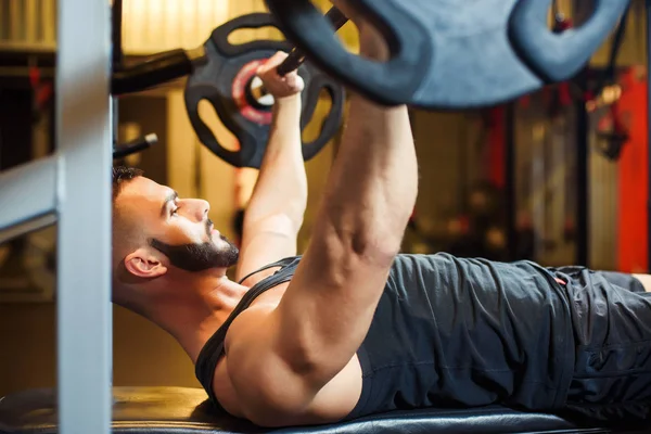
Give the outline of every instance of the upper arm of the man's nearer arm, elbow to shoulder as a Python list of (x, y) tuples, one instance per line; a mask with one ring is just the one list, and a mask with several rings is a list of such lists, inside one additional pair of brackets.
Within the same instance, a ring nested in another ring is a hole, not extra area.
[(331, 381), (359, 349), (390, 267), (312, 240), (277, 315), (279, 352), (314, 387)]

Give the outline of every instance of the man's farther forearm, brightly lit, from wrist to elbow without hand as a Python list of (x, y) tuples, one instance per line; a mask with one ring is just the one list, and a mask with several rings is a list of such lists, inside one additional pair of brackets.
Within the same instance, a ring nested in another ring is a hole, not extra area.
[(246, 207), (247, 222), (285, 214), (297, 225), (307, 206), (307, 177), (301, 140), (301, 95), (276, 102), (269, 142)]

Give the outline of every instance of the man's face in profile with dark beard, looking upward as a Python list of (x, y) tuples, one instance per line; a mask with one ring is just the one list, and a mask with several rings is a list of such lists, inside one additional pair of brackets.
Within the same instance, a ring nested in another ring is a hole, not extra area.
[(138, 177), (123, 187), (116, 207), (174, 267), (202, 271), (238, 261), (238, 248), (208, 218), (206, 201), (180, 199), (170, 188)]

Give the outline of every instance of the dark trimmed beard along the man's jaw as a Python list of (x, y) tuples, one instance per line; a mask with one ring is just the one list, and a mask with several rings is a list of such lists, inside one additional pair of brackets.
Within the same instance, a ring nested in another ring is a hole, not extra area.
[[(212, 221), (206, 221), (206, 233), (210, 237)], [(240, 251), (226, 237), (220, 235), (225, 246), (217, 247), (213, 242), (199, 244), (170, 245), (153, 239), (150, 244), (165, 254), (173, 266), (186, 271), (196, 272), (210, 268), (229, 268), (238, 263)]]

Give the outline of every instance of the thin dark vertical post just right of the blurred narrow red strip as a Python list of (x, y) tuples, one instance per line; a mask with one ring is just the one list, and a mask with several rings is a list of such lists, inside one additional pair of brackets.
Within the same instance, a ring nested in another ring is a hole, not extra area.
[(515, 102), (507, 104), (505, 116), (505, 203), (507, 222), (507, 246), (509, 260), (518, 259), (518, 230), (515, 228), (516, 195), (515, 195)]

